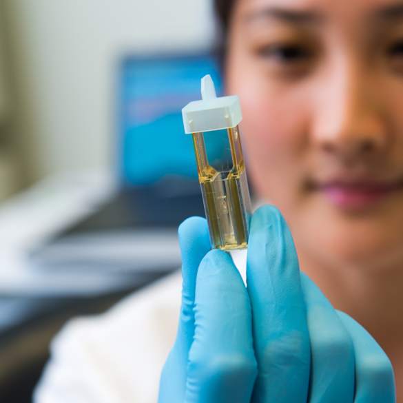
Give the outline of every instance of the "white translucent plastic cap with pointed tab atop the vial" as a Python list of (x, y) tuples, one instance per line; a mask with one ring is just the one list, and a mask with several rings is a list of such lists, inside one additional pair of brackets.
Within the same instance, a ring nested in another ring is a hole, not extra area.
[(211, 132), (235, 127), (242, 121), (238, 96), (217, 98), (211, 76), (201, 81), (201, 101), (188, 103), (182, 110), (185, 133)]

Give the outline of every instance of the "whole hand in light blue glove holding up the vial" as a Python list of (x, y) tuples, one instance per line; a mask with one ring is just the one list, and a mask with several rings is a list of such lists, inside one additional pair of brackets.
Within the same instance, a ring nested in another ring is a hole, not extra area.
[(300, 274), (274, 207), (251, 220), (247, 288), (207, 223), (179, 228), (183, 300), (159, 403), (395, 402), (391, 362), (357, 322)]

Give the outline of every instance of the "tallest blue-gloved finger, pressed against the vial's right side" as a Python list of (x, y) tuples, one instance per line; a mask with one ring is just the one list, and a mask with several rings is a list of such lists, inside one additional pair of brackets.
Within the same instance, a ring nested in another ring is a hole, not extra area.
[(298, 258), (275, 207), (251, 219), (247, 289), (253, 313), (258, 378), (254, 402), (307, 401), (310, 348)]

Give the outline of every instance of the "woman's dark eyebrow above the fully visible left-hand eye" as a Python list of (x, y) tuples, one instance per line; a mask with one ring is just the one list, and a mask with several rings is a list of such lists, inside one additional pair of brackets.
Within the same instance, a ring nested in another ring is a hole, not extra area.
[(278, 19), (287, 23), (318, 23), (323, 17), (318, 12), (289, 10), (288, 8), (269, 7), (260, 8), (254, 12), (250, 12), (245, 17), (247, 23), (260, 19)]

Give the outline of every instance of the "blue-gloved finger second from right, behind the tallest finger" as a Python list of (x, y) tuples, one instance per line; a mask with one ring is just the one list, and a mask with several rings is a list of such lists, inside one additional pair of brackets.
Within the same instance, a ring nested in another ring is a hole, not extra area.
[(301, 282), (311, 340), (309, 402), (353, 402), (354, 349), (350, 335), (313, 281), (301, 273)]

